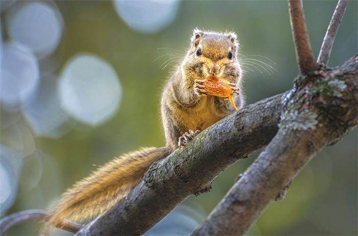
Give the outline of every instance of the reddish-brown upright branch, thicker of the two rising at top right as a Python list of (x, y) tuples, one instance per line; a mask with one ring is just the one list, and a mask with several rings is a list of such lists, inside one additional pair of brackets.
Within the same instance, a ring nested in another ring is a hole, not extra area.
[(297, 63), (302, 74), (318, 68), (309, 43), (302, 0), (288, 0), (289, 18), (295, 42)]

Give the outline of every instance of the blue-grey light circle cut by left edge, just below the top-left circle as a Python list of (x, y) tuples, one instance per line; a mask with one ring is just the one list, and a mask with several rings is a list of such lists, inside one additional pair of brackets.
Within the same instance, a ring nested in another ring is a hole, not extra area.
[(24, 45), (6, 43), (1, 53), (0, 100), (13, 107), (32, 95), (38, 85), (39, 68), (36, 57)]

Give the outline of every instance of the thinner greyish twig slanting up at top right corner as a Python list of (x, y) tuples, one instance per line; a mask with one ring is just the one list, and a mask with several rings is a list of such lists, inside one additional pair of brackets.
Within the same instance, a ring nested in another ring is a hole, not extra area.
[(337, 7), (335, 7), (333, 16), (331, 21), (329, 22), (329, 26), (324, 36), (320, 54), (318, 55), (317, 63), (328, 64), (329, 57), (331, 54), (333, 42), (335, 35), (337, 34), (337, 30), (341, 24), (344, 12), (346, 11), (346, 7), (348, 4), (348, 0), (339, 0)]

